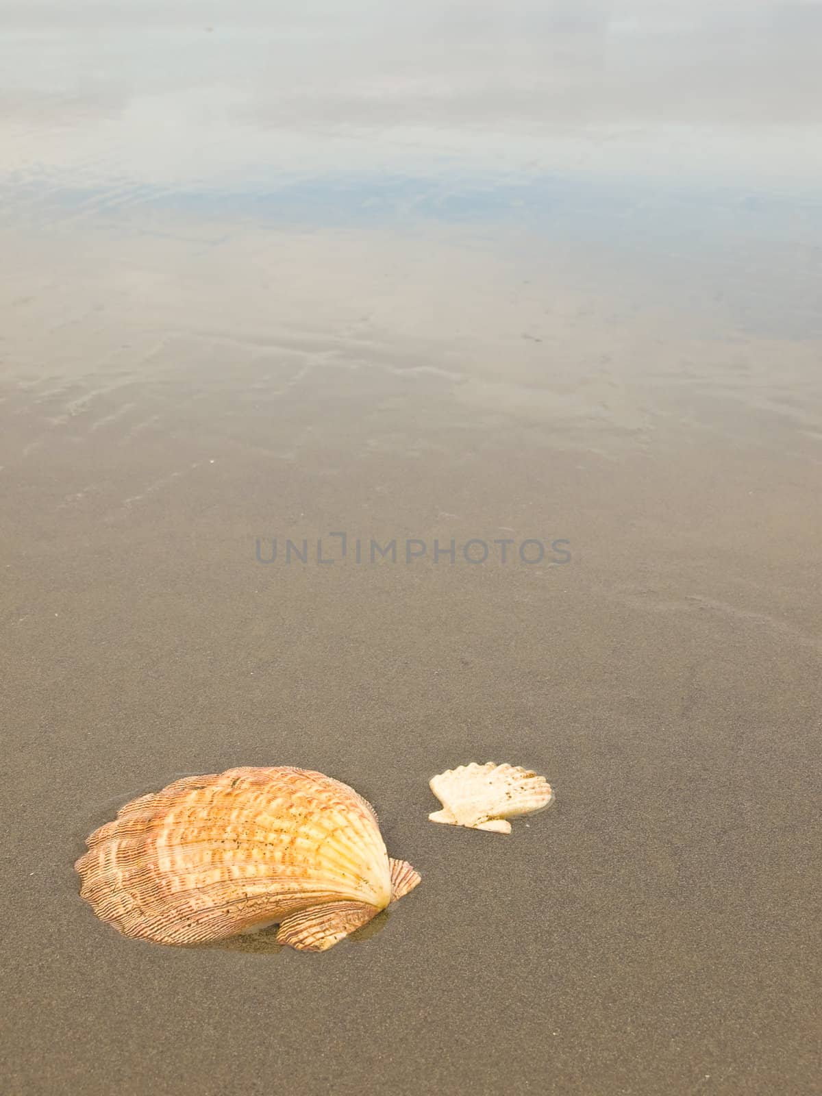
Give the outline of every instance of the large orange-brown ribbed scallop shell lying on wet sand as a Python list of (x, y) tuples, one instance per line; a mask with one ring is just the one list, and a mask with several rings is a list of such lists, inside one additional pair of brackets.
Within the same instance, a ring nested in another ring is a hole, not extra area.
[(301, 768), (231, 768), (127, 803), (88, 838), (80, 894), (126, 936), (199, 944), (279, 923), (324, 951), (420, 881), (373, 808)]

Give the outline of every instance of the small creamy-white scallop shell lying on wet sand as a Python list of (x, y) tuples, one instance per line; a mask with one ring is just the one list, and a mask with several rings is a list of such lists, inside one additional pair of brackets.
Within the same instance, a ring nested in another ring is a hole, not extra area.
[(493, 833), (511, 833), (505, 819), (545, 810), (553, 798), (545, 777), (492, 761), (449, 768), (433, 776), (429, 787), (443, 804), (443, 810), (429, 814), (432, 822)]

